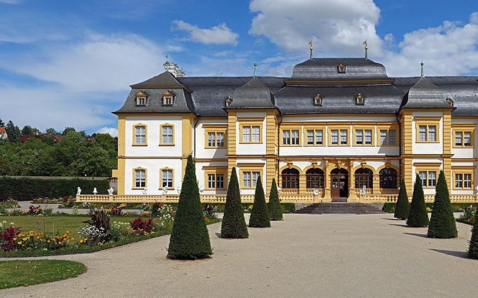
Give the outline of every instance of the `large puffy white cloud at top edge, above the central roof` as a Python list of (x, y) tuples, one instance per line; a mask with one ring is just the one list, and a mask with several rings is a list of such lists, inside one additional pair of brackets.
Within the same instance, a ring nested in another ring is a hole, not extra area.
[(363, 52), (365, 39), (371, 52), (382, 44), (375, 32), (380, 9), (372, 0), (253, 0), (250, 10), (257, 15), (249, 33), (288, 51), (306, 52), (310, 40), (316, 57)]

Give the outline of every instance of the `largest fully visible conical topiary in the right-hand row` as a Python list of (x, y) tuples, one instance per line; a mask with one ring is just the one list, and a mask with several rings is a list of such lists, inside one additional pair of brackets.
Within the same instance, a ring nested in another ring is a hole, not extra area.
[(453, 215), (452, 203), (448, 192), (445, 173), (440, 171), (435, 188), (435, 202), (431, 211), (430, 225), (428, 226), (428, 237), (430, 238), (456, 238), (455, 216)]

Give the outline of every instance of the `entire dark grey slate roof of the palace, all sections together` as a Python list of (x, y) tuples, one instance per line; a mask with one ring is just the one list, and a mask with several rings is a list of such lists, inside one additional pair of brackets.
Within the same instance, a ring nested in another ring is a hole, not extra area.
[[(347, 66), (345, 74), (337, 74), (336, 67), (340, 63)], [(300, 77), (302, 75), (315, 77)], [(340, 76), (345, 79), (339, 79)], [(390, 82), (347, 82), (370, 79), (389, 79)], [(231, 96), (233, 97), (231, 108), (240, 106), (240, 108), (259, 106), (269, 108), (274, 105), (282, 114), (395, 114), (403, 107), (449, 108), (445, 102), (449, 97), (454, 101), (453, 115), (478, 116), (477, 79), (475, 76), (426, 77), (417, 84), (420, 77), (387, 77), (383, 65), (363, 58), (307, 60), (294, 68), (291, 78), (251, 76), (175, 78), (169, 72), (164, 72), (131, 85), (132, 90), (124, 106), (115, 113), (176, 112), (195, 113), (201, 116), (227, 116), (224, 101)], [(284, 80), (287, 80), (287, 84)], [(314, 84), (300, 80), (342, 80), (343, 83)], [(241, 88), (242, 86), (244, 88)], [(146, 106), (136, 106), (135, 95), (139, 90), (149, 95)], [(163, 106), (162, 94), (166, 90), (176, 94), (173, 106)], [(234, 94), (235, 91), (237, 92)], [(358, 93), (365, 96), (363, 106), (355, 105), (355, 96)], [(269, 95), (267, 100), (266, 94)], [(313, 105), (313, 97), (316, 94), (323, 97), (321, 107)]]

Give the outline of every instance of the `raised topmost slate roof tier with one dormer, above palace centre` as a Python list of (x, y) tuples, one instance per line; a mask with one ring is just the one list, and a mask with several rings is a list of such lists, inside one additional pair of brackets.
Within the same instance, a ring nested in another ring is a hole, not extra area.
[[(345, 65), (345, 73), (337, 66)], [(292, 80), (387, 79), (385, 67), (365, 58), (312, 58), (294, 66)]]

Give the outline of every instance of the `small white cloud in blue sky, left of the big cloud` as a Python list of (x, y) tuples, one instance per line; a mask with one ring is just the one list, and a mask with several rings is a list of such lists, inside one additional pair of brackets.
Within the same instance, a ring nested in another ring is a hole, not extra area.
[(209, 29), (199, 28), (196, 25), (186, 23), (181, 20), (172, 22), (173, 30), (183, 30), (189, 32), (189, 37), (183, 40), (191, 40), (204, 44), (237, 44), (239, 35), (227, 27), (226, 23), (213, 26)]

